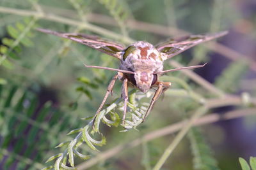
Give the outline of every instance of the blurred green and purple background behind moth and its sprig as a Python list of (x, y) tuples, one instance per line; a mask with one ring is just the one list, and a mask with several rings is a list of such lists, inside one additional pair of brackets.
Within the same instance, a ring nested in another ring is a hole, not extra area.
[[(173, 36), (227, 30), (218, 43), (199, 45), (173, 57), (184, 66), (208, 64), (196, 69), (193, 76), (183, 72), (164, 75), (163, 80), (172, 81), (172, 88), (157, 101), (147, 120), (138, 126), (139, 131), (120, 132), (121, 126), (102, 124), (107, 143), (97, 148), (104, 153), (191, 117), (200, 103), (189, 95), (175, 94), (175, 90), (184, 90), (185, 83), (189, 86), (185, 91), (207, 100), (221, 101), (223, 96), (230, 96), (230, 101), (241, 99), (239, 104), (220, 104), (207, 111), (218, 115), (237, 111), (239, 118), (191, 129), (162, 169), (241, 169), (239, 157), (247, 161), (255, 157), (256, 1), (1, 0), (0, 169), (51, 165), (45, 160), (63, 152), (63, 148), (54, 147), (74, 138), (67, 136), (69, 131), (88, 124), (89, 120), (81, 118), (95, 113), (115, 74), (86, 69), (83, 62), (118, 67), (113, 57), (43, 34), (36, 27), (97, 34), (125, 45), (132, 39), (157, 44)], [(166, 61), (164, 67), (170, 69), (172, 64)], [(205, 83), (193, 79), (195, 75), (220, 93), (205, 89)], [(120, 97), (120, 88), (121, 83), (116, 83), (108, 103)], [(152, 169), (175, 136), (169, 133), (124, 147), (90, 169)], [(92, 157), (100, 154), (85, 143), (80, 149)], [(86, 161), (75, 159), (76, 165)]]

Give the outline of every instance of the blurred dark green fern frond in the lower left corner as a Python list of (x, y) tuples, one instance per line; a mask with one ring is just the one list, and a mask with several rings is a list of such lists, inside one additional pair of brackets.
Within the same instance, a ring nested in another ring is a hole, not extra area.
[[(56, 132), (60, 134), (60, 131), (54, 132), (52, 129), (59, 127), (60, 120), (65, 116), (55, 110), (51, 102), (40, 104), (34, 92), (25, 90), (20, 96), (20, 91), (16, 86), (0, 85), (0, 119), (4, 120), (0, 122), (0, 145), (1, 149), (6, 150), (4, 164), (8, 168), (18, 159), (18, 167), (38, 169), (35, 162), (41, 162), (45, 155), (43, 144), (56, 145), (54, 138)], [(49, 125), (44, 124), (45, 120)], [(3, 156), (3, 152), (0, 155)]]

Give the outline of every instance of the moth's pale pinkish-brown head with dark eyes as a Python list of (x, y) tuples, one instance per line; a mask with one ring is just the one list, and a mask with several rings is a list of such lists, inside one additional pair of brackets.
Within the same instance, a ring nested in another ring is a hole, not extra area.
[(136, 71), (131, 74), (131, 82), (136, 85), (141, 92), (147, 92), (157, 81), (157, 74), (150, 71)]

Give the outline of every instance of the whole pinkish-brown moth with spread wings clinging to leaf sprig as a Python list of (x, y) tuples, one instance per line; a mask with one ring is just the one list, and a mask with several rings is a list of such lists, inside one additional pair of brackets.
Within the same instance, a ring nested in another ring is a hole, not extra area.
[(77, 41), (78, 43), (82, 43), (84, 45), (95, 48), (100, 52), (106, 53), (120, 60), (119, 69), (100, 66), (87, 66), (86, 64), (84, 64), (84, 66), (117, 71), (108, 85), (107, 92), (95, 114), (94, 120), (104, 106), (104, 103), (106, 102), (109, 94), (113, 92), (115, 81), (119, 79), (123, 82), (121, 96), (122, 99), (124, 99), (124, 114), (122, 118), (122, 124), (124, 124), (127, 111), (128, 86), (138, 88), (141, 90), (141, 92), (144, 93), (148, 92), (148, 90), (152, 89), (153, 87), (157, 88), (154, 96), (150, 101), (150, 105), (147, 108), (145, 116), (143, 117), (144, 122), (158, 97), (161, 96), (161, 94), (163, 94), (163, 92), (171, 86), (170, 82), (158, 81), (158, 78), (161, 76), (161, 74), (178, 71), (181, 69), (195, 69), (205, 66), (204, 64), (199, 66), (179, 67), (175, 69), (163, 70), (164, 60), (170, 59), (175, 55), (188, 50), (188, 48), (198, 45), (199, 43), (203, 43), (214, 38), (219, 38), (227, 34), (227, 31), (223, 31), (214, 34), (184, 36), (182, 38), (170, 39), (169, 41), (160, 43), (156, 46), (146, 41), (136, 41), (132, 45), (129, 45), (125, 48), (125, 46), (119, 43), (106, 41), (99, 38), (98, 36), (76, 33), (61, 33), (47, 29), (37, 30), (48, 34), (53, 34), (55, 36), (60, 36), (62, 38), (72, 39), (73, 41)]

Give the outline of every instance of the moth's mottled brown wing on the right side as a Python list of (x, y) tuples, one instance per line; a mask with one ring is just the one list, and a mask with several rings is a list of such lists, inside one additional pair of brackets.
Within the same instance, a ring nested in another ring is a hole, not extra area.
[(157, 50), (159, 50), (159, 52), (166, 53), (168, 55), (167, 59), (170, 59), (171, 57), (178, 55), (185, 50), (188, 50), (188, 48), (198, 45), (199, 43), (203, 43), (205, 41), (224, 36), (227, 33), (227, 31), (223, 31), (213, 34), (190, 35), (184, 36), (182, 38), (173, 38), (169, 41), (156, 45), (156, 48)]

